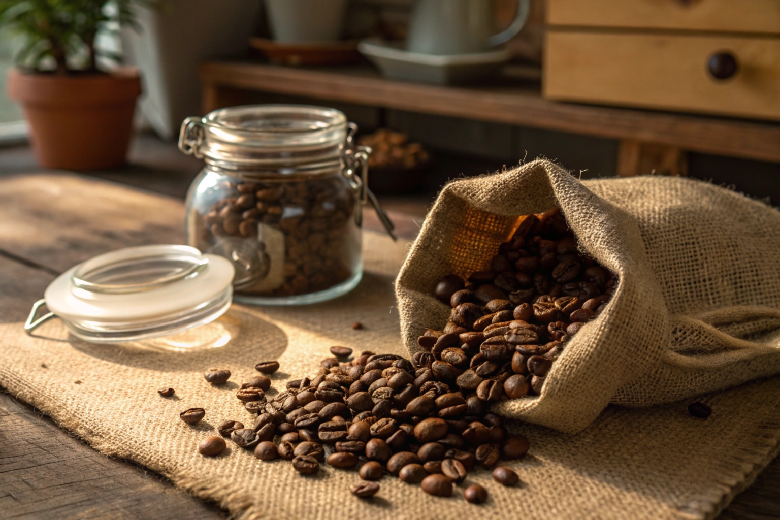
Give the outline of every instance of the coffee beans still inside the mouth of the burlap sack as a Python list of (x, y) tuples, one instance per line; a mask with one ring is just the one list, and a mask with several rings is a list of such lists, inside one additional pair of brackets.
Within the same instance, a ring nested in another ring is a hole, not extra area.
[(569, 340), (604, 310), (617, 286), (577, 251), (558, 209), (523, 219), (498, 247), (491, 268), (464, 281), (449, 274), (435, 295), (452, 306), (443, 330), (429, 329), (413, 356), (438, 380), (455, 380), (468, 398), (495, 402), (541, 392)]

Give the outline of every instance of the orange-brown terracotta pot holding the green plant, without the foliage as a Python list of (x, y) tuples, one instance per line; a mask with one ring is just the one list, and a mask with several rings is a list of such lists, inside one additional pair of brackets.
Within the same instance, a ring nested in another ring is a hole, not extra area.
[(97, 170), (124, 164), (141, 92), (135, 69), (56, 76), (12, 69), (8, 94), (22, 105), (41, 166)]

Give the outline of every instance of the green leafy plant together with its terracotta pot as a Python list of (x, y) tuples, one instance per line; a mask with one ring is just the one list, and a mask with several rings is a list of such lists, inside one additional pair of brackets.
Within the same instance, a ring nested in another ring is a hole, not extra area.
[(141, 92), (136, 69), (104, 69), (115, 59), (99, 31), (135, 24), (152, 0), (0, 0), (0, 27), (23, 39), (8, 94), (23, 108), (38, 162), (89, 170), (125, 162)]

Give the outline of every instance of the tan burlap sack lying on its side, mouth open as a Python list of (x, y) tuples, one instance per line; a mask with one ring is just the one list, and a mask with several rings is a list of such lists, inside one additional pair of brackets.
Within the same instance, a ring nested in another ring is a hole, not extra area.
[(489, 268), (519, 216), (555, 206), (619, 288), (566, 345), (541, 395), (496, 412), (573, 433), (610, 402), (654, 405), (780, 372), (777, 210), (692, 179), (579, 182), (544, 160), (441, 191), (396, 281), (410, 352), (449, 317), (437, 281)]

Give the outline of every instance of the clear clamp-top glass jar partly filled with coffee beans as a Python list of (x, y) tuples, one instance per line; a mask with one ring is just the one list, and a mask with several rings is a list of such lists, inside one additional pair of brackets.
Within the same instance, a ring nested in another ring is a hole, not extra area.
[(332, 108), (251, 105), (188, 118), (179, 149), (205, 166), (186, 200), (190, 246), (230, 260), (239, 302), (321, 302), (363, 274), (363, 203), (371, 149)]

